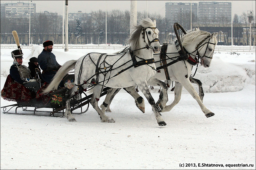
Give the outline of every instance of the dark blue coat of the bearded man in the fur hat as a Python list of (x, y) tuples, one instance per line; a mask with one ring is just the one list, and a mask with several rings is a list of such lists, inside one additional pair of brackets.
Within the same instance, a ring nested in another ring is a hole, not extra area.
[(43, 49), (42, 53), (37, 57), (37, 62), (40, 68), (43, 70), (43, 81), (50, 83), (54, 75), (61, 67), (59, 63), (57, 63), (55, 55), (52, 52), (48, 52), (47, 50)]

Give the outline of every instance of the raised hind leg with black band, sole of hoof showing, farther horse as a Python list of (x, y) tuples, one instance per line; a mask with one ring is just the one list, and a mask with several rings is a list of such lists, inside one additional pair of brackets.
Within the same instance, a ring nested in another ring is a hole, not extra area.
[(135, 100), (136, 106), (145, 113), (145, 102), (144, 99), (136, 92), (135, 86), (124, 88), (127, 93), (129, 93)]

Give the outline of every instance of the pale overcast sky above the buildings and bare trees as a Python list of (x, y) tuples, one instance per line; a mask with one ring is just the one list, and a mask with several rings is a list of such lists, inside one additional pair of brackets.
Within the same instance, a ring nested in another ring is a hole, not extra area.
[[(19, 1), (1, 1), (1, 3), (16, 3)], [(24, 3), (29, 3), (28, 0), (20, 1)], [(98, 10), (106, 10), (106, 2), (107, 2), (107, 11), (112, 9), (119, 10), (130, 10), (130, 1), (122, 0), (122, 1), (68, 1), (68, 12), (69, 13), (77, 13), (78, 11), (82, 11), (83, 13), (90, 13), (91, 11)], [(137, 0), (137, 11), (146, 11), (146, 2), (148, 4), (148, 13), (159, 13), (163, 17), (165, 17), (165, 3), (166, 2), (207, 2), (207, 1), (139, 1)], [(209, 2), (209, 1), (208, 1)], [(241, 15), (243, 12), (247, 13), (248, 10), (253, 10), (255, 15), (255, 0), (253, 1), (217, 1), (217, 2), (232, 2), (233, 3), (233, 15)], [(32, 1), (32, 3), (36, 4), (36, 12), (44, 12), (45, 10), (48, 12), (57, 12), (58, 14), (63, 14), (63, 1)]]

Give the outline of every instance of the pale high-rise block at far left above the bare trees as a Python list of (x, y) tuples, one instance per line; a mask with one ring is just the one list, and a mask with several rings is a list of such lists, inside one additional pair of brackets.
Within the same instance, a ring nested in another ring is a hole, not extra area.
[[(30, 5), (30, 9), (29, 9)], [(5, 15), (6, 17), (29, 17), (35, 15), (35, 3), (6, 3), (1, 4), (1, 16)]]

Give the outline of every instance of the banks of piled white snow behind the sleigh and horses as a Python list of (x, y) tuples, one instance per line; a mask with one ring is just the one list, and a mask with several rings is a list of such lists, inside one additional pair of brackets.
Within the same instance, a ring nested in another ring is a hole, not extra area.
[[(14, 49), (1, 49), (1, 76), (7, 77), (12, 65), (11, 51)], [(43, 50), (39, 45), (32, 49), (23, 49), (23, 64), (28, 65), (31, 57), (37, 57)], [(104, 49), (53, 49), (56, 60), (60, 65), (71, 59), (79, 59), (90, 52), (114, 53), (114, 50)], [(204, 92), (236, 92), (244, 89), (248, 84), (255, 85), (255, 54), (252, 53), (215, 53), (209, 68), (198, 66), (196, 76), (203, 84)], [(193, 72), (195, 67), (193, 68)], [(198, 89), (194, 85), (195, 89)], [(183, 89), (184, 90), (184, 89)], [(157, 92), (158, 90), (153, 90)], [(184, 90), (186, 92), (186, 90)]]

